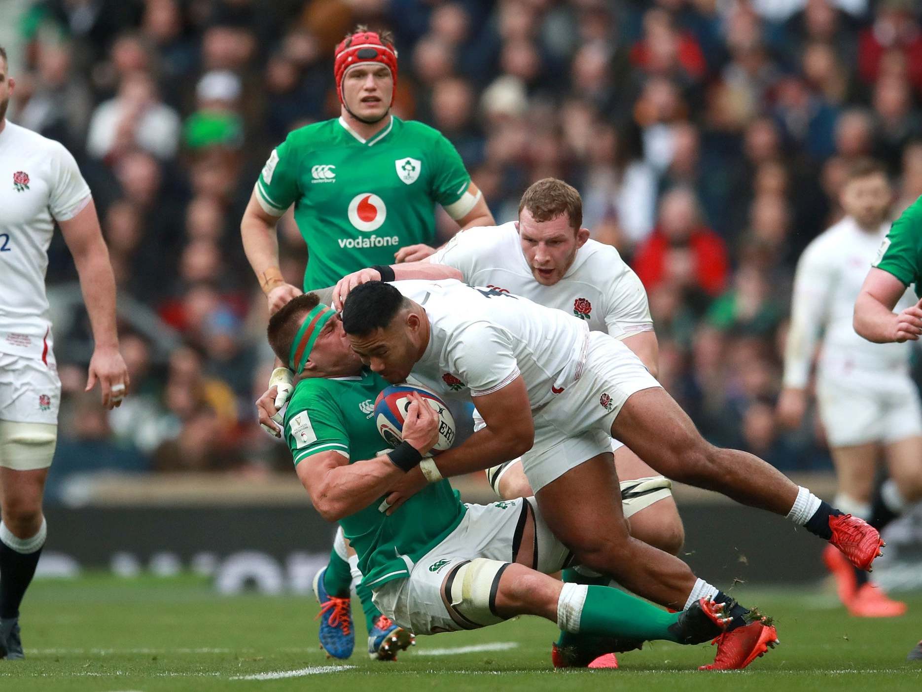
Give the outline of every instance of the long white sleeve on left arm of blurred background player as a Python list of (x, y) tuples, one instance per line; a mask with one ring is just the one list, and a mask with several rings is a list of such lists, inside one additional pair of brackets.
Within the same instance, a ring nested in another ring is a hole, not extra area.
[(820, 331), (829, 313), (838, 273), (833, 248), (825, 236), (814, 240), (798, 260), (785, 346), (784, 386), (805, 388)]

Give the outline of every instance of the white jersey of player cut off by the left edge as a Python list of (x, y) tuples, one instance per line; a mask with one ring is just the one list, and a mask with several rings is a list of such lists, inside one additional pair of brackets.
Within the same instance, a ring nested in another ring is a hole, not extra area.
[(59, 142), (6, 121), (0, 131), (0, 352), (51, 349), (45, 295), (54, 221), (89, 204), (77, 161)]

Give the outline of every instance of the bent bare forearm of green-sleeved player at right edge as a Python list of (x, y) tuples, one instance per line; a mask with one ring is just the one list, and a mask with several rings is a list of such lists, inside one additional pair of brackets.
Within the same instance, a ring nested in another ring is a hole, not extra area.
[(871, 268), (855, 301), (852, 326), (859, 336), (875, 343), (916, 341), (922, 335), (922, 301), (900, 314), (893, 306), (906, 287), (889, 271)]

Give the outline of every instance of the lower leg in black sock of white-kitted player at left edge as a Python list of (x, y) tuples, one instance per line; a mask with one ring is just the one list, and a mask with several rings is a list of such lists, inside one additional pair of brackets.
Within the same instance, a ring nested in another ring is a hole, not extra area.
[(0, 467), (0, 658), (23, 657), (19, 605), (45, 541), (41, 497), (47, 477), (47, 468), (18, 471)]

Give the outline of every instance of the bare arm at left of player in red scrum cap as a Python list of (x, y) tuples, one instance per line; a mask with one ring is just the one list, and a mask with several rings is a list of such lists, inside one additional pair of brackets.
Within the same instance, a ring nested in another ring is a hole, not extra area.
[(278, 217), (263, 209), (254, 191), (243, 211), (240, 234), (243, 252), (259, 280), (259, 287), (266, 293), (269, 314), (277, 312), (282, 305), (301, 295), (301, 289), (287, 283), (278, 268), (277, 222)]

